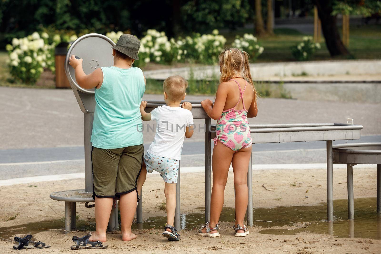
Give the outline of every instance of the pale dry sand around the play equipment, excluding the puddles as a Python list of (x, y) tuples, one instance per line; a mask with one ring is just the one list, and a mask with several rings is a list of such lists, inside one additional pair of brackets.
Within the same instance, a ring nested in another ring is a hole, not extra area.
[[(325, 169), (298, 169), (298, 170), (256, 170), (253, 172), (253, 200), (256, 208), (272, 208), (275, 206), (317, 205), (326, 201), (326, 172)], [(334, 198), (346, 198), (346, 171), (334, 169)], [(198, 179), (198, 182), (194, 182)], [(186, 173), (181, 176), (181, 212), (200, 212), (199, 207), (204, 206), (204, 174)], [(296, 186), (291, 184), (296, 183)], [(191, 184), (192, 183), (192, 184)], [(267, 189), (266, 190), (262, 185)], [(58, 190), (82, 189), (84, 179), (38, 182), (31, 184), (19, 184), (2, 186), (0, 195), (0, 218), (10, 217), (16, 213), (19, 215), (14, 220), (0, 221), (0, 227), (18, 228), (18, 225), (27, 222), (41, 222), (43, 220), (60, 220), (64, 215), (64, 203), (49, 198), (49, 194)], [(152, 191), (161, 189), (158, 191)], [(308, 190), (308, 193), (306, 193)], [(143, 187), (143, 216), (144, 220), (154, 216), (165, 216), (165, 212), (158, 209), (157, 203), (165, 201), (163, 193), (163, 181), (157, 176), (148, 176)], [(354, 167), (354, 193), (355, 198), (376, 196), (376, 170), (360, 169)], [(308, 195), (308, 198), (305, 196)], [(279, 197), (282, 199), (278, 200)], [(229, 173), (229, 179), (225, 192), (225, 206), (234, 207), (233, 174)], [(80, 219), (89, 220), (94, 218), (94, 208), (85, 208), (83, 204), (77, 204), (77, 213)], [(381, 240), (366, 238), (337, 238), (328, 234), (296, 233), (295, 235), (267, 235), (258, 233), (261, 227), (255, 225), (250, 229), (250, 235), (243, 238), (235, 238), (232, 222), (221, 222), (221, 237), (207, 238), (197, 235), (197, 231), (189, 228), (182, 230), (181, 241), (168, 242), (161, 236), (162, 228), (155, 228), (149, 232), (138, 235), (133, 241), (123, 242), (121, 235), (107, 234), (107, 250), (82, 250), (76, 252), (86, 253), (379, 253)], [(63, 227), (63, 221), (62, 221)], [(1, 231), (1, 230), (0, 230)], [(134, 233), (146, 230), (133, 230)], [(23, 228), (19, 229), (19, 235), (25, 235)], [(48, 249), (28, 250), (28, 253), (63, 253), (75, 252), (70, 250), (73, 235), (82, 236), (85, 232), (70, 232), (65, 235), (62, 230), (42, 231), (34, 234), (34, 237), (51, 245)], [(0, 253), (13, 251), (12, 237), (9, 241), (0, 241)], [(26, 252), (26, 250), (23, 250)]]

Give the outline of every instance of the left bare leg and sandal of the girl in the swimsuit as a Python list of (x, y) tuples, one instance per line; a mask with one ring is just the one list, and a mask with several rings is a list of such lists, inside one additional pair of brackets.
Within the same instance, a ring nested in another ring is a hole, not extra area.
[[(217, 142), (213, 149), (213, 187), (210, 200), (210, 222), (209, 227), (215, 227), (219, 221), (222, 207), (224, 205), (224, 191), (227, 182), (227, 173), (229, 172), (230, 164), (232, 162), (234, 151)], [(203, 233), (206, 232), (206, 228), (203, 228)], [(216, 230), (210, 233), (216, 233)]]

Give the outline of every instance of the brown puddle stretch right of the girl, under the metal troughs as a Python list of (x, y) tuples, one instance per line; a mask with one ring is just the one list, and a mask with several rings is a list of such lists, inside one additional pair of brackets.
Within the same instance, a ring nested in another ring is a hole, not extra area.
[[(324, 233), (337, 237), (356, 237), (381, 239), (381, 214), (376, 213), (376, 198), (358, 198), (354, 200), (355, 219), (348, 219), (347, 200), (335, 200), (335, 222), (327, 222), (327, 203), (319, 206), (290, 206), (272, 209), (255, 209), (255, 220), (270, 220), (258, 222), (264, 227), (259, 233), (292, 235), (298, 232)], [(303, 224), (303, 225), (302, 225)], [(282, 228), (266, 227), (279, 226)]]

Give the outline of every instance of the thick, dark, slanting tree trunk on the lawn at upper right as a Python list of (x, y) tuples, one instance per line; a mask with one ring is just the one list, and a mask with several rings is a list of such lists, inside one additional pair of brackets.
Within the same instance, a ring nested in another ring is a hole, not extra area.
[(314, 0), (314, 3), (317, 7), (320, 21), (322, 22), (325, 44), (331, 56), (349, 55), (349, 51), (341, 41), (336, 26), (336, 16), (331, 15), (333, 0)]

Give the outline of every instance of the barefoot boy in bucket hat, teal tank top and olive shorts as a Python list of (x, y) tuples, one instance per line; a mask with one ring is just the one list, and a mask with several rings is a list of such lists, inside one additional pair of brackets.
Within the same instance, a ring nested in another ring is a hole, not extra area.
[[(114, 198), (120, 198), (122, 240), (136, 238), (131, 232), (137, 202), (138, 179), (144, 155), (139, 106), (146, 79), (132, 64), (138, 60), (139, 40), (130, 34), (120, 36), (112, 47), (114, 65), (86, 75), (82, 59), (70, 57), (75, 79), (83, 88), (95, 89), (95, 113), (91, 142), (93, 151), (93, 198), (96, 231), (88, 239), (106, 241), (106, 228)], [(138, 128), (137, 128), (138, 126)]]

